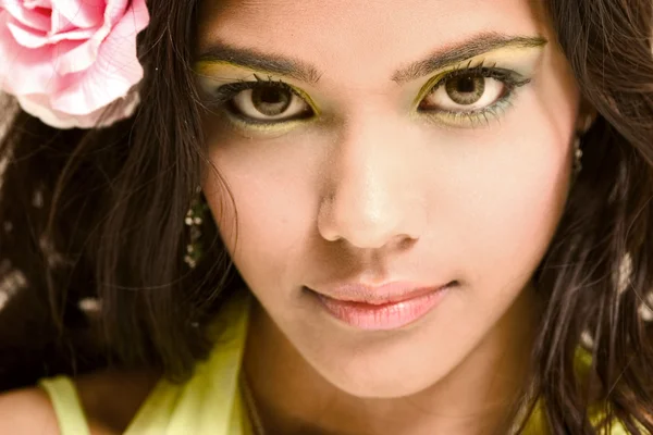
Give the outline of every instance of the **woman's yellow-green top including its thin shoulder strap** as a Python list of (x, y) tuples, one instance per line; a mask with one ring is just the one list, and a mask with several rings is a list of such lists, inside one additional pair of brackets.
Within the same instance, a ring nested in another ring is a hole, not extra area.
[[(215, 348), (184, 384), (160, 381), (136, 413), (125, 435), (249, 435), (238, 387), (249, 297), (235, 297), (220, 315)], [(89, 435), (86, 418), (69, 377), (41, 380), (57, 413), (61, 435)], [(527, 434), (546, 434), (541, 412), (528, 420)], [(627, 435), (621, 425), (611, 435)]]

